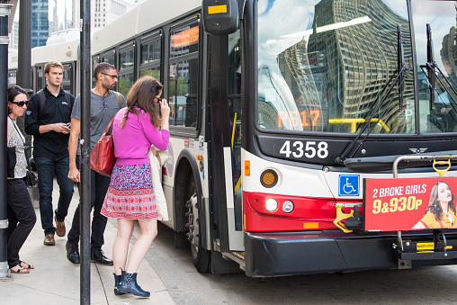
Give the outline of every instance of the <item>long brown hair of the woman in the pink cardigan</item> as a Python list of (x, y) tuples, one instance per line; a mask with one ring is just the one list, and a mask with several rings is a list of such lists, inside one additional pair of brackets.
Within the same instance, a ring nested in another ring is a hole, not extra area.
[(135, 108), (139, 108), (148, 112), (151, 117), (152, 125), (158, 129), (161, 125), (161, 119), (158, 114), (158, 107), (160, 107), (160, 105), (157, 106), (157, 104), (154, 103), (154, 100), (162, 88), (163, 85), (152, 76), (143, 76), (139, 78), (135, 84), (131, 86), (129, 94), (127, 94), (127, 111), (119, 126), (121, 126), (121, 128), (125, 126), (129, 112), (138, 115), (139, 111)]

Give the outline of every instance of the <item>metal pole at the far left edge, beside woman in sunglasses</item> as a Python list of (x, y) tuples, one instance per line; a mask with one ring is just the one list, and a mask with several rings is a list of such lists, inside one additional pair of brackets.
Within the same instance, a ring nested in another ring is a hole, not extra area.
[[(8, 87), (8, 16), (11, 13), (11, 4), (0, 1), (0, 96), (7, 100)], [(0, 278), (9, 275), (6, 260), (6, 246), (8, 243), (6, 229), (8, 228), (7, 210), (7, 185), (6, 185), (6, 106), (0, 107)]]

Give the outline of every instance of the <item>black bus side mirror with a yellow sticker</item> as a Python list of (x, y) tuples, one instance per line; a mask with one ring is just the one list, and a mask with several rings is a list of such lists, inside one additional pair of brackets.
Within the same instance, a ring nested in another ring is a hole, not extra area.
[(237, 0), (202, 0), (203, 25), (212, 35), (228, 35), (238, 29)]

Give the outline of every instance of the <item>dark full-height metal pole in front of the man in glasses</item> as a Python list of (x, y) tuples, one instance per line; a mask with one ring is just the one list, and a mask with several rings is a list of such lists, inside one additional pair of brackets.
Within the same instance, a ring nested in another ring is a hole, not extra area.
[(90, 97), (91, 97), (91, 3), (81, 0), (80, 20), (80, 68), (81, 68), (81, 265), (80, 296), (81, 304), (91, 302), (91, 168), (90, 168)]

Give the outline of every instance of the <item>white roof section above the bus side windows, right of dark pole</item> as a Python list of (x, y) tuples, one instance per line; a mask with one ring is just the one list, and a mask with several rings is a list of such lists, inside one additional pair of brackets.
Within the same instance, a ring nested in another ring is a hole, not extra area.
[(202, 0), (145, 1), (114, 22), (94, 32), (92, 54), (98, 54), (133, 36), (155, 28), (184, 13), (200, 7)]

